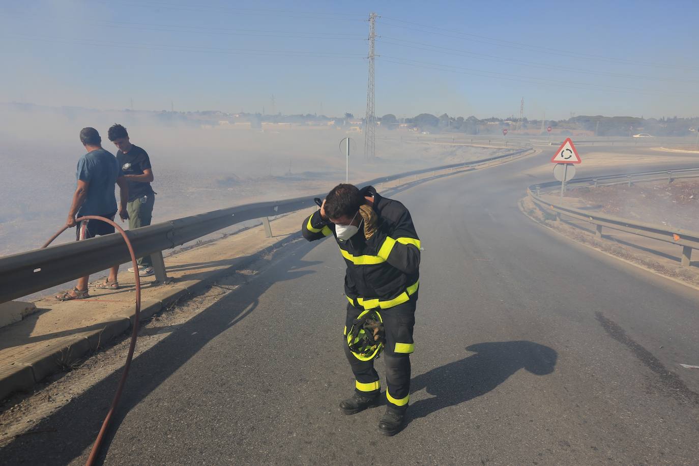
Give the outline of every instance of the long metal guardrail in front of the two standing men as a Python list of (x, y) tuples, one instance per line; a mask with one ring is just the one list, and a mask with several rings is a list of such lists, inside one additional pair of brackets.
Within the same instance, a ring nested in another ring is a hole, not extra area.
[[(489, 165), (494, 161), (505, 161), (508, 157), (514, 159), (515, 156), (524, 156), (531, 151), (533, 148), (529, 145), (486, 159), (412, 170), (359, 184), (379, 184), (403, 178), (409, 178), (412, 181), (412, 177), (417, 178), (423, 173), (433, 172), (432, 175), (435, 176), (442, 170)], [(267, 220), (267, 217), (312, 207), (315, 205), (313, 198), (324, 197), (325, 194), (238, 205), (136, 228), (127, 231), (127, 235), (134, 246), (136, 257), (157, 253), (162, 261), (160, 252), (164, 249), (183, 245), (185, 242), (243, 221)], [(268, 224), (266, 223), (265, 226), (267, 227)], [(270, 231), (267, 228), (266, 230), (269, 235)], [(129, 257), (124, 240), (117, 233), (0, 257), (0, 303), (105, 270), (116, 263), (125, 263), (129, 261)]]

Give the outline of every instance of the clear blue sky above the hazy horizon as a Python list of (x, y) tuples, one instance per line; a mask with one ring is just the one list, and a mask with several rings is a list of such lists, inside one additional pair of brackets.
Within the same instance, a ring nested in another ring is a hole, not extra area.
[(0, 6), (0, 101), (539, 119), (699, 115), (696, 1), (31, 1)]

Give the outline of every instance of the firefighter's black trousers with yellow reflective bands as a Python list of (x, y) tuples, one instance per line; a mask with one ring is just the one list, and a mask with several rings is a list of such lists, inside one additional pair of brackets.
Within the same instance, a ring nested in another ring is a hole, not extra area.
[[(410, 354), (415, 350), (412, 341), (412, 328), (415, 326), (415, 304), (411, 299), (407, 303), (378, 310), (384, 322), (386, 344), (382, 357), (386, 365), (386, 399), (390, 409), (396, 412), (405, 412), (408, 409), (410, 398)], [(347, 305), (347, 318), (345, 319), (345, 332), (352, 327), (354, 319), (363, 312), (363, 309)], [(374, 369), (374, 361), (360, 361), (349, 351), (347, 336), (343, 340), (345, 355), (356, 379), (354, 389), (363, 396), (375, 396), (381, 391), (379, 374)]]

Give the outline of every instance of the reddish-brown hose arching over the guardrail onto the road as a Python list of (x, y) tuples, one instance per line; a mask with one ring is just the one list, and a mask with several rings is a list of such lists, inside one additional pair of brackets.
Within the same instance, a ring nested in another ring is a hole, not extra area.
[[(99, 430), (97, 439), (95, 440), (94, 445), (92, 446), (92, 451), (90, 451), (89, 457), (87, 458), (87, 462), (85, 463), (85, 465), (91, 466), (94, 464), (97, 458), (97, 454), (99, 453), (99, 447), (102, 444), (102, 440), (104, 439), (104, 435), (107, 431), (107, 428), (109, 427), (109, 423), (112, 420), (112, 416), (117, 409), (117, 405), (119, 404), (119, 399), (121, 398), (122, 391), (124, 390), (124, 384), (126, 384), (127, 376), (129, 375), (131, 359), (134, 358), (134, 349), (136, 349), (136, 337), (138, 336), (138, 321), (140, 318), (140, 276), (138, 275), (138, 263), (136, 263), (134, 247), (131, 246), (131, 242), (127, 237), (127, 233), (124, 231), (122, 227), (120, 227), (110, 219), (99, 217), (97, 215), (85, 215), (85, 217), (78, 217), (77, 219), (75, 219), (76, 222), (80, 222), (82, 220), (104, 221), (113, 226), (117, 231), (119, 231), (119, 233), (122, 235), (122, 238), (124, 238), (124, 242), (126, 242), (127, 247), (129, 248), (129, 254), (131, 255), (131, 263), (134, 264), (134, 277), (136, 277), (136, 314), (134, 315), (134, 331), (131, 332), (131, 344), (129, 345), (129, 354), (127, 355), (127, 362), (124, 364), (124, 372), (122, 372), (122, 378), (120, 379), (119, 385), (117, 386), (117, 393), (115, 393), (114, 399), (112, 400), (112, 406), (109, 408), (109, 412), (107, 413), (107, 416), (104, 418), (102, 428)], [(45, 243), (45, 245), (42, 246), (42, 248), (50, 245), (53, 242), (53, 240), (58, 238), (58, 235), (66, 231), (68, 228), (70, 227), (67, 225), (61, 228), (55, 235), (51, 237), (50, 240), (48, 240)]]

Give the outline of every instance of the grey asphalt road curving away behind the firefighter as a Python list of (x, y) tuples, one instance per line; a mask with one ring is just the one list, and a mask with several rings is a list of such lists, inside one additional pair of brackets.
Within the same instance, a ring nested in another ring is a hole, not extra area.
[[(135, 361), (105, 463), (696, 464), (699, 371), (679, 363), (699, 364), (699, 293), (521, 214), (526, 186), (550, 180), (526, 172), (548, 159), (393, 196), (425, 249), (399, 435), (377, 433), (382, 407), (340, 414), (343, 261), (331, 240), (299, 241)], [(84, 462), (117, 375), (1, 463)]]

